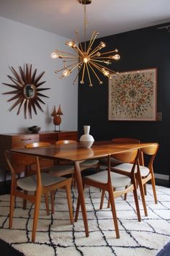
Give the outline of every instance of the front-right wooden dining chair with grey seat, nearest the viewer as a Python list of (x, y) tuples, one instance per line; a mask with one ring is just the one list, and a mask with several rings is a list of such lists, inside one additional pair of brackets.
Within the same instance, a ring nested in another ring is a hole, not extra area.
[[(137, 188), (135, 184), (135, 167), (138, 166), (138, 155), (139, 155), (139, 150), (130, 150), (124, 153), (117, 153), (114, 155), (115, 159), (117, 159), (118, 161), (122, 161), (122, 162), (133, 161), (133, 166), (131, 168), (130, 174), (127, 174), (127, 175), (115, 174), (112, 171), (110, 171), (110, 156), (108, 156), (106, 171), (100, 171), (97, 174), (92, 174), (92, 175), (83, 177), (84, 187), (87, 184), (89, 186), (102, 189), (100, 209), (102, 209), (105, 192), (107, 191), (109, 193), (109, 200), (112, 208), (112, 217), (115, 224), (115, 233), (117, 238), (120, 238), (120, 233), (119, 233), (119, 228), (117, 223), (115, 197), (120, 197), (122, 195), (125, 195), (125, 193), (129, 191), (133, 191), (136, 211), (138, 215), (138, 221), (141, 220), (140, 209), (138, 205)], [(126, 188), (124, 189), (124, 187)], [(122, 188), (122, 189), (116, 191), (115, 188)], [(81, 198), (78, 197), (75, 222), (78, 220), (80, 200)]]

